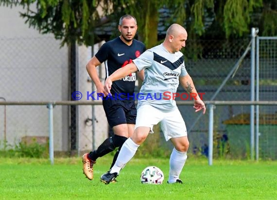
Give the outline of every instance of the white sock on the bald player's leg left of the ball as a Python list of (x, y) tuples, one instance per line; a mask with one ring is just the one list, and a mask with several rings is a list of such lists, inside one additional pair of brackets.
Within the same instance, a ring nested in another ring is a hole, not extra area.
[(110, 173), (119, 173), (121, 168), (123, 168), (126, 163), (134, 157), (138, 147), (139, 145), (137, 145), (131, 138), (128, 138), (122, 145), (118, 158), (114, 166), (111, 168)]

